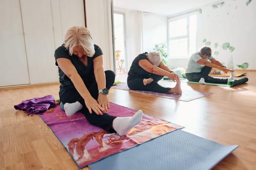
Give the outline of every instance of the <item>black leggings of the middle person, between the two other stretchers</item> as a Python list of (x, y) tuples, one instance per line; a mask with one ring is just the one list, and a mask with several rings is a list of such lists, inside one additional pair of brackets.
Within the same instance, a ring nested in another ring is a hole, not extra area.
[(158, 84), (158, 81), (163, 78), (163, 76), (157, 75), (157, 74), (150, 74), (149, 77), (145, 78), (152, 78), (154, 81), (151, 82), (148, 85), (143, 84), (143, 79), (144, 78), (131, 78), (128, 76), (127, 78), (127, 85), (130, 89), (132, 90), (146, 90), (146, 91), (154, 91), (158, 93), (170, 93), (169, 87), (163, 87)]

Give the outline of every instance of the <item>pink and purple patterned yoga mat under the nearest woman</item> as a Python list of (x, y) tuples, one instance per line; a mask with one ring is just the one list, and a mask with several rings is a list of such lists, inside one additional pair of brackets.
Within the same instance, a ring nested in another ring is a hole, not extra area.
[[(133, 116), (136, 112), (137, 110), (110, 103), (108, 114), (127, 117)], [(126, 136), (119, 136), (117, 133), (109, 134), (91, 125), (81, 113), (67, 117), (59, 105), (40, 117), (50, 126), (79, 168), (183, 128), (169, 121), (143, 114), (140, 124), (132, 128)]]

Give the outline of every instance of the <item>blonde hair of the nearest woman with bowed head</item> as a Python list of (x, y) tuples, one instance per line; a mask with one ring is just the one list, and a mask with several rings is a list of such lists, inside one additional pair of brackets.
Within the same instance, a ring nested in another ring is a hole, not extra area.
[(64, 35), (64, 47), (69, 49), (69, 54), (73, 54), (73, 48), (80, 46), (88, 57), (95, 53), (92, 34), (85, 27), (71, 27)]

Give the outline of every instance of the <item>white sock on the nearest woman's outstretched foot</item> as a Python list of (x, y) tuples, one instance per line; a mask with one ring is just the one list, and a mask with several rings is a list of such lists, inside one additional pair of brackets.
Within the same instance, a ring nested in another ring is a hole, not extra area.
[(117, 117), (113, 120), (113, 128), (119, 136), (125, 136), (134, 126), (140, 123), (142, 114), (142, 111), (138, 110), (133, 117)]

